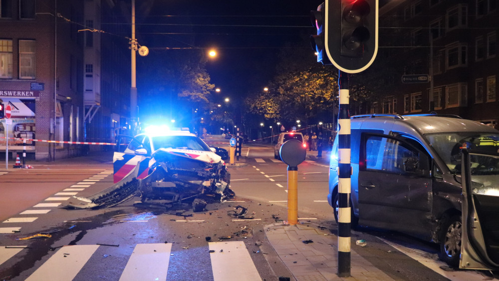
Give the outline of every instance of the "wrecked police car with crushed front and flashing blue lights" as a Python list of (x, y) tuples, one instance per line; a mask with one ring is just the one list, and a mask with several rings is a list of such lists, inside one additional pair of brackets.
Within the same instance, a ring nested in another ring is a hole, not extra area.
[(113, 156), (114, 185), (87, 198), (73, 196), (66, 207), (111, 207), (136, 195), (142, 202), (175, 204), (209, 196), (234, 197), (221, 157), (188, 131), (150, 128), (134, 138), (119, 136)]

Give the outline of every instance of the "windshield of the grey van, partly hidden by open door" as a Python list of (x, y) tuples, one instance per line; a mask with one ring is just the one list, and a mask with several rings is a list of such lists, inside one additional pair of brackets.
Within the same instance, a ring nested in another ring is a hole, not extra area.
[[(456, 132), (429, 134), (425, 138), (454, 174), (461, 174), (461, 147), (471, 150), (498, 152), (499, 134)], [(476, 163), (480, 165), (480, 163)]]

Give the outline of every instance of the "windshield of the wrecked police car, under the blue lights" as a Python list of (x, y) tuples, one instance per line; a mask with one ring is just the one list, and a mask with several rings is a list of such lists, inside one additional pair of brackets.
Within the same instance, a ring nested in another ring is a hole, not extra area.
[(153, 148), (190, 149), (211, 151), (208, 145), (195, 136), (155, 136), (152, 137)]

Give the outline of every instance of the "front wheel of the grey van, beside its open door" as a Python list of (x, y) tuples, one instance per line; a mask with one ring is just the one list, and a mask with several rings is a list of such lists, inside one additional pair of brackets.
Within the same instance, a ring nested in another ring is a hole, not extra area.
[(462, 226), (461, 216), (453, 216), (442, 229), (440, 259), (451, 267), (459, 267)]

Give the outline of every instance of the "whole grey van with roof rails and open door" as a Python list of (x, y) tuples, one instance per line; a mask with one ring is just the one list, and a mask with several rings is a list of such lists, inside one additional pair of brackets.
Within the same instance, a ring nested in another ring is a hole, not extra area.
[[(351, 117), (350, 145), (352, 227), (440, 243), (441, 260), (454, 267), (499, 268), (498, 130), (449, 115), (360, 115)], [(463, 149), (491, 155), (470, 156), (463, 165)], [(338, 138), (327, 195), (336, 222), (337, 167)], [(471, 192), (465, 191), (467, 173)]]

